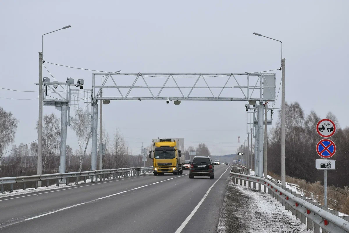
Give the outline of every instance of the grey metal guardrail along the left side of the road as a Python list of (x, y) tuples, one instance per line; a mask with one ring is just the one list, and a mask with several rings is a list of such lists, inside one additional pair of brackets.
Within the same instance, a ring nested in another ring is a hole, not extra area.
[(3, 185), (11, 184), (10, 191), (13, 192), (13, 184), (23, 183), (23, 190), (25, 190), (25, 184), (27, 182), (35, 182), (35, 188), (38, 188), (38, 181), (46, 181), (46, 187), (49, 187), (49, 180), (57, 180), (56, 186), (59, 186), (59, 181), (64, 181), (66, 185), (69, 184), (69, 179), (75, 179), (75, 184), (78, 183), (79, 177), (84, 177), (84, 183), (86, 183), (87, 177), (91, 176), (91, 181), (94, 179), (109, 180), (128, 176), (137, 176), (143, 173), (153, 172), (153, 167), (129, 167), (129, 168), (116, 168), (116, 169), (104, 169), (104, 170), (92, 170), (86, 172), (68, 172), (68, 173), (54, 173), (43, 174), (33, 176), (14, 176), (14, 177), (0, 177), (0, 192), (3, 193)]

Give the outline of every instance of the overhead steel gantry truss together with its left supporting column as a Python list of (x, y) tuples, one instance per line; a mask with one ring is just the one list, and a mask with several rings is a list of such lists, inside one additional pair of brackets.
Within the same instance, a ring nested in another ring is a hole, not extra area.
[(275, 101), (275, 73), (92, 73), (91, 96), (91, 169), (95, 170), (98, 100), (106, 104), (110, 100), (162, 100), (174, 104), (189, 100), (250, 101), (262, 104), (263, 101)]

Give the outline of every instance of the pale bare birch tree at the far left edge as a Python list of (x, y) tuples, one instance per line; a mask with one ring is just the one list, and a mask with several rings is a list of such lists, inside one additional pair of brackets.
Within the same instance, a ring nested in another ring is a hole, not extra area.
[(14, 142), (18, 123), (20, 121), (0, 107), (0, 169), (8, 146)]

